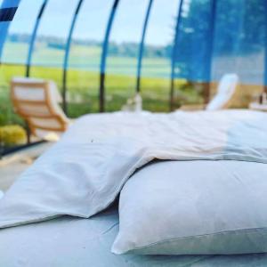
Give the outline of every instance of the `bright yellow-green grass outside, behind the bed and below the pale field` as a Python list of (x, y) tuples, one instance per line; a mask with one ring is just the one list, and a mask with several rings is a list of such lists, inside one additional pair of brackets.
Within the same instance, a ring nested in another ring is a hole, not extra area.
[[(12, 112), (9, 82), (13, 76), (24, 76), (25, 67), (2, 65), (0, 67), (0, 125), (19, 124), (23, 121)], [(61, 90), (62, 70), (58, 68), (33, 67), (32, 77), (55, 81)], [(106, 110), (120, 110), (129, 97), (134, 96), (136, 78), (118, 74), (106, 77)], [(176, 80), (175, 105), (202, 101), (201, 94), (183, 80)], [(68, 116), (79, 117), (99, 111), (99, 74), (93, 71), (69, 69)], [(143, 109), (155, 112), (169, 111), (170, 81), (166, 78), (143, 77)]]

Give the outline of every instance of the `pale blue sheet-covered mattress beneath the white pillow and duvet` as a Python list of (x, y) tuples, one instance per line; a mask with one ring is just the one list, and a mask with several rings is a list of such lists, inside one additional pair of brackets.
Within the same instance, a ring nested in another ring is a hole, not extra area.
[[(203, 161), (197, 161), (199, 166)], [(231, 161), (231, 167), (235, 161)], [(195, 162), (196, 163), (196, 162)], [(173, 161), (173, 166), (180, 164)], [(225, 175), (238, 179), (222, 161)], [(239, 175), (247, 172), (241, 168)], [(250, 171), (265, 175), (261, 163), (250, 163)], [(168, 168), (170, 165), (167, 165)], [(267, 165), (265, 165), (267, 168)], [(259, 171), (260, 169), (260, 171)], [(196, 174), (198, 167), (195, 166)], [(214, 179), (216, 179), (214, 172)], [(0, 231), (0, 266), (267, 266), (267, 254), (258, 255), (113, 255), (110, 247), (117, 236), (117, 203), (90, 219), (63, 216)]]

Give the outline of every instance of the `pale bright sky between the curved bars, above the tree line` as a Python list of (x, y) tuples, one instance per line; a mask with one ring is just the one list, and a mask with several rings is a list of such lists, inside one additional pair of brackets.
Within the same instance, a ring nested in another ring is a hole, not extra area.
[[(154, 0), (146, 44), (166, 45), (172, 42), (179, 1)], [(30, 34), (42, 3), (43, 0), (21, 0), (10, 32)], [(74, 37), (101, 41), (112, 4), (113, 0), (85, 0), (77, 19)], [(121, 0), (110, 40), (117, 43), (139, 42), (148, 4), (149, 0)], [(77, 0), (48, 0), (38, 35), (66, 38), (76, 5)]]

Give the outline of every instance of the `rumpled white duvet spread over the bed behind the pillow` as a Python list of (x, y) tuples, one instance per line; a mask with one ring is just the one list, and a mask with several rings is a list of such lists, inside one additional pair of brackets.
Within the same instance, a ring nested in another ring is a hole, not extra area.
[(248, 110), (81, 117), (0, 199), (0, 228), (90, 217), (154, 158), (267, 163), (266, 121)]

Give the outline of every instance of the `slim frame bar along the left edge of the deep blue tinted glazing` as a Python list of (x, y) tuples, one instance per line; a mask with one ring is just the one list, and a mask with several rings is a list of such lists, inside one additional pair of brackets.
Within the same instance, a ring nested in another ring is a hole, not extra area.
[(171, 89), (170, 89), (170, 110), (174, 109), (174, 78), (175, 78), (175, 55), (178, 48), (178, 32), (182, 18), (182, 4), (183, 0), (180, 0), (178, 15), (176, 20), (176, 27), (175, 27), (175, 34), (174, 34), (174, 46), (173, 46), (173, 53), (172, 53), (172, 66), (171, 66)]

